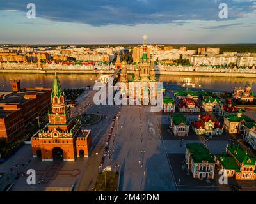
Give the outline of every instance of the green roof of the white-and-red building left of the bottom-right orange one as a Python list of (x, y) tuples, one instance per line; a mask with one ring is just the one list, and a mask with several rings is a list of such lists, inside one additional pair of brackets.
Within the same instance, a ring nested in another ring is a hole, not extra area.
[(202, 161), (215, 163), (214, 157), (210, 154), (209, 149), (207, 149), (202, 143), (186, 144), (186, 148), (192, 154), (194, 163), (202, 163)]

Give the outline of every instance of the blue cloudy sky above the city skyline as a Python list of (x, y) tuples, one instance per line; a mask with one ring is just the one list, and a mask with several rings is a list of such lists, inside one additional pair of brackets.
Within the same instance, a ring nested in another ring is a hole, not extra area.
[(1, 44), (256, 43), (255, 33), (256, 0), (0, 0)]

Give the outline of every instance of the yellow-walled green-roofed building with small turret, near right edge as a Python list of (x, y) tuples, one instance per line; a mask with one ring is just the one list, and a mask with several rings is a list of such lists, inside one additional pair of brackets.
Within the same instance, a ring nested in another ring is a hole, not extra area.
[(238, 110), (237, 115), (228, 115), (224, 117), (224, 129), (230, 134), (237, 134), (243, 132), (242, 126), (247, 122), (254, 122), (248, 116), (242, 115), (241, 109)]

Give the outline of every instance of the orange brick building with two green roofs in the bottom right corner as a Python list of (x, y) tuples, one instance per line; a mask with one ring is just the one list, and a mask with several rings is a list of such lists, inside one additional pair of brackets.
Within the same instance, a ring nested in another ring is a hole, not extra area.
[(256, 159), (242, 150), (240, 145), (227, 145), (226, 152), (216, 154), (215, 161), (226, 177), (237, 180), (256, 179)]

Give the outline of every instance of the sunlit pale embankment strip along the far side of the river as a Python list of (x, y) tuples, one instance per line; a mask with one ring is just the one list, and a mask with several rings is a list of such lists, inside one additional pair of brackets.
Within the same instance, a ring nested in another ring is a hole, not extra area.
[[(0, 73), (27, 73), (27, 74), (112, 74), (115, 70), (0, 70)], [(129, 74), (134, 71), (127, 71)], [(218, 73), (195, 71), (156, 71), (157, 75), (201, 76), (201, 77), (256, 77), (256, 73)]]

